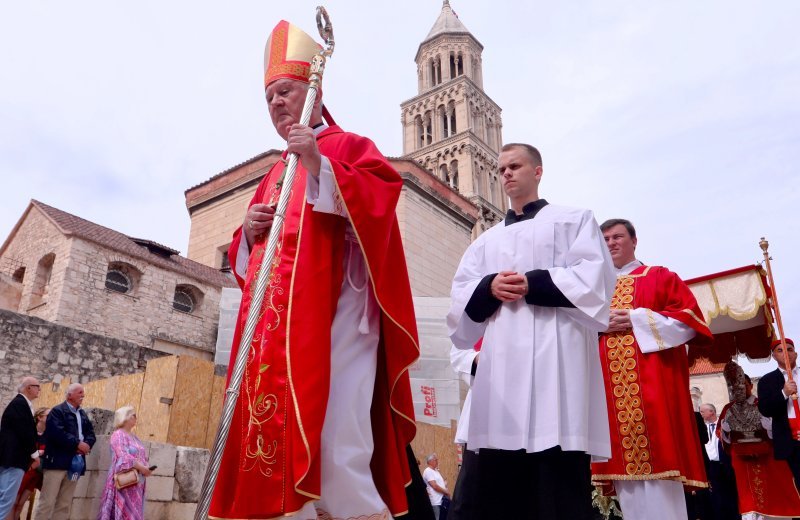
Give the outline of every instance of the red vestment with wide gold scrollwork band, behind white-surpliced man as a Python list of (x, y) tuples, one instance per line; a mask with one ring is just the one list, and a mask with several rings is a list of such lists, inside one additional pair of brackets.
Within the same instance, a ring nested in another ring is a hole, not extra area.
[[(697, 301), (678, 276), (640, 266), (617, 279), (612, 309), (648, 308), (693, 328), (692, 343), (712, 335)], [(614, 494), (613, 480), (677, 480), (708, 487), (689, 395), (684, 347), (643, 354), (632, 330), (600, 336), (611, 459), (592, 464), (592, 481)]]

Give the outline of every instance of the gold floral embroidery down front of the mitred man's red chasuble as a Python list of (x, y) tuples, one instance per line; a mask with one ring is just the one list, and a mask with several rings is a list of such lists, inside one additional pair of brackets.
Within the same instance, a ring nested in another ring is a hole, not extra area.
[[(270, 188), (268, 200), (277, 199), (280, 187)], [(285, 229), (285, 228), (284, 228)], [(267, 240), (267, 237), (264, 237)], [(279, 237), (272, 262), (270, 263), (270, 274), (267, 280), (266, 290), (261, 308), (258, 310), (258, 325), (250, 342), (247, 369), (244, 373), (244, 402), (243, 425), (241, 445), (243, 471), (258, 471), (265, 477), (273, 475), (273, 466), (278, 463), (279, 442), (277, 438), (268, 438), (265, 432), (265, 425), (271, 421), (280, 408), (278, 397), (279, 393), (284, 396), (287, 394), (288, 383), (278, 384), (278, 388), (268, 379), (270, 365), (263, 362), (262, 354), (265, 349), (270, 348), (269, 341), (272, 338), (268, 333), (278, 329), (281, 324), (282, 314), (286, 311), (286, 305), (279, 301), (286, 293), (283, 277), (278, 272), (280, 265), (281, 252), (283, 249), (284, 237)], [(254, 265), (257, 266), (253, 278), (250, 281), (250, 301), (252, 302), (255, 292), (256, 281), (263, 269), (262, 261), (265, 254), (266, 243), (253, 252)], [(278, 300), (278, 301), (276, 301)], [(252, 308), (250, 311), (252, 312)], [(285, 399), (284, 399), (285, 400)], [(284, 403), (285, 404), (285, 403)], [(281, 412), (285, 414), (284, 410)], [(285, 420), (284, 420), (285, 424)]]

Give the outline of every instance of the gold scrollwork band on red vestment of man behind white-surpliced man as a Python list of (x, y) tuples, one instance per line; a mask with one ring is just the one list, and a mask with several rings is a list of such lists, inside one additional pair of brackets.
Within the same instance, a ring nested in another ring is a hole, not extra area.
[[(612, 309), (633, 309), (634, 278), (620, 276)], [(632, 330), (609, 334), (606, 338), (611, 391), (616, 409), (617, 431), (622, 439), (622, 456), (628, 475), (650, 475), (650, 450), (639, 387), (636, 340)]]

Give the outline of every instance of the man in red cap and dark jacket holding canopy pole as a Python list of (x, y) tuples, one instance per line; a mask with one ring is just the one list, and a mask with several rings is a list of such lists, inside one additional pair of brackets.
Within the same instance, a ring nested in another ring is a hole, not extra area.
[[(785, 460), (794, 475), (795, 485), (800, 488), (800, 441), (797, 435), (792, 434), (790, 422), (800, 420), (797, 413), (798, 401), (792, 396), (797, 396), (797, 378), (800, 369), (797, 368), (797, 353), (794, 351), (794, 341), (786, 338), (786, 357), (789, 359), (787, 368), (784, 359), (783, 344), (780, 340), (772, 343), (772, 358), (778, 362), (778, 368), (764, 374), (758, 381), (758, 410), (765, 417), (772, 417), (772, 446), (775, 458)], [(792, 381), (788, 380), (787, 371), (792, 371)]]

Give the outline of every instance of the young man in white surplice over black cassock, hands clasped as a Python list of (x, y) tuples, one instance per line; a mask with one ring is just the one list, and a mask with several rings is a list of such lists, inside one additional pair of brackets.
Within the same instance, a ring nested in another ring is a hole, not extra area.
[(590, 211), (539, 198), (536, 148), (503, 146), (499, 173), (511, 210), (461, 259), (447, 320), (458, 348), (483, 337), (467, 433), (477, 518), (589, 518), (589, 456), (611, 453), (597, 334), (613, 265)]

